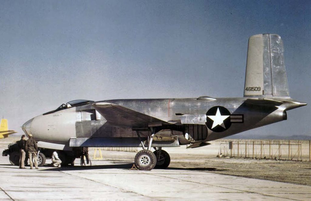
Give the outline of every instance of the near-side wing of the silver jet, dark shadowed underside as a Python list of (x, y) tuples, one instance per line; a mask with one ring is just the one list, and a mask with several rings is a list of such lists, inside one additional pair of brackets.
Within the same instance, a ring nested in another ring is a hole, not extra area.
[(104, 118), (107, 123), (120, 127), (142, 128), (156, 124), (170, 124), (167, 121), (128, 109), (121, 105), (106, 102), (94, 103), (93, 106)]

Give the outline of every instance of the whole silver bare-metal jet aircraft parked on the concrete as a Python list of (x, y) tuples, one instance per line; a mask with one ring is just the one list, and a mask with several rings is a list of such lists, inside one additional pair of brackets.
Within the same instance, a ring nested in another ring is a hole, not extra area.
[(259, 34), (248, 40), (244, 97), (74, 100), (30, 119), (22, 129), (40, 147), (72, 153), (79, 147), (142, 147), (134, 164), (151, 170), (169, 166), (162, 147), (202, 147), (286, 120), (287, 110), (304, 105), (289, 95), (281, 37)]

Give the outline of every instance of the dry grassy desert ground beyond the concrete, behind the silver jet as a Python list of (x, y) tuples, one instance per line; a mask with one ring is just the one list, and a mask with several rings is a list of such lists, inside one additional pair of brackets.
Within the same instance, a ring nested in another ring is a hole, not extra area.
[[(1, 150), (7, 148), (9, 143), (17, 140), (19, 140), (18, 137), (2, 139), (0, 141)], [(223, 175), (243, 176), (311, 186), (311, 162), (306, 160), (297, 162), (274, 159), (249, 159), (243, 157), (216, 157), (220, 153), (220, 143), (227, 143), (228, 141), (230, 140), (212, 141), (211, 145), (193, 149), (187, 149), (186, 146), (163, 148), (171, 157), (171, 163), (168, 169), (206, 171)], [(235, 139), (234, 141), (237, 140)], [(306, 154), (309, 152), (309, 146), (307, 146), (307, 143), (304, 145), (305, 146), (302, 146), (302, 151), (305, 154), (303, 158), (307, 159)], [(243, 147), (241, 149), (243, 149)], [(90, 148), (89, 150), (90, 158), (93, 161), (94, 148)], [(138, 148), (138, 150), (140, 149)], [(100, 164), (100, 161), (119, 161), (120, 163), (128, 162), (130, 164), (133, 163), (136, 154), (136, 152), (107, 150), (101, 150), (101, 152), (103, 158), (95, 160), (96, 164)], [(266, 153), (267, 152), (268, 151), (266, 151)], [(3, 158), (6, 158), (4, 161), (10, 164), (8, 157)], [(46, 165), (49, 163), (51, 163), (51, 161), (47, 159)], [(79, 166), (79, 164), (79, 159), (76, 159), (76, 166)]]

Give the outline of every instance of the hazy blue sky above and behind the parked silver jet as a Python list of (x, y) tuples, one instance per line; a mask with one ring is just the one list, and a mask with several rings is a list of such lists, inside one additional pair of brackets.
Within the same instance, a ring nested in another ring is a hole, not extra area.
[(310, 135), (310, 1), (0, 1), (0, 115), (70, 100), (242, 97), (248, 38), (281, 35), (290, 96), (309, 105), (243, 135)]

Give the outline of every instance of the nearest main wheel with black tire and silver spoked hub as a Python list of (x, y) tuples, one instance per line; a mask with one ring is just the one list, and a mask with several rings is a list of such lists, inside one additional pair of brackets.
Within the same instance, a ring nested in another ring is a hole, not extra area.
[(139, 170), (152, 170), (156, 166), (156, 155), (149, 150), (141, 150), (136, 154), (134, 164)]

